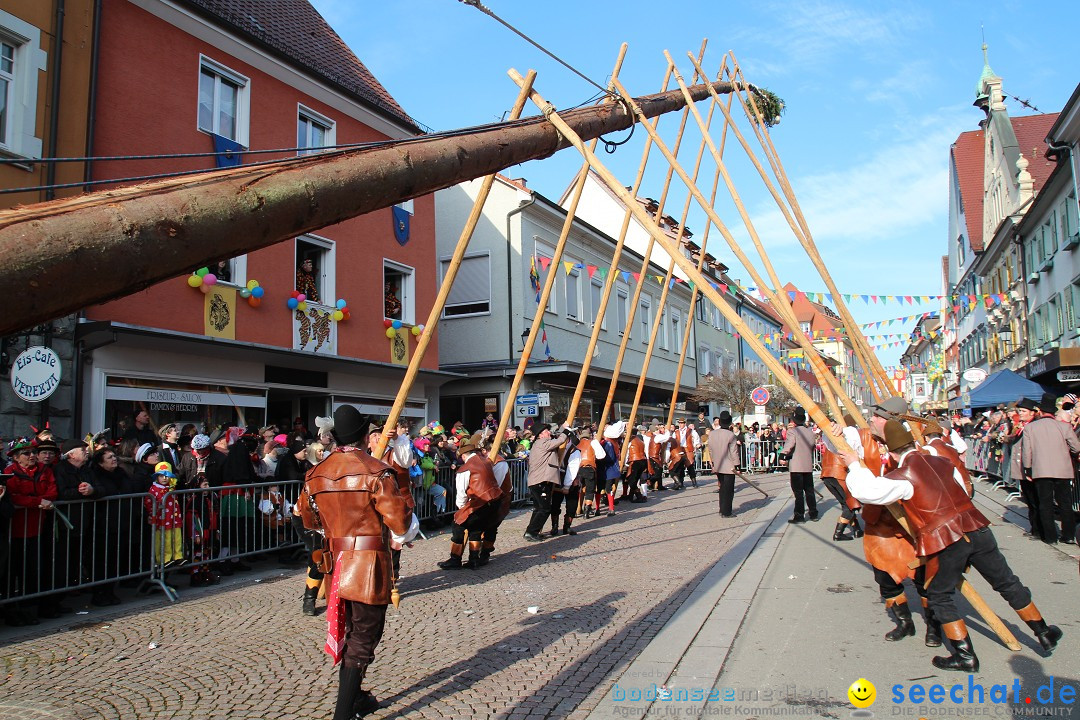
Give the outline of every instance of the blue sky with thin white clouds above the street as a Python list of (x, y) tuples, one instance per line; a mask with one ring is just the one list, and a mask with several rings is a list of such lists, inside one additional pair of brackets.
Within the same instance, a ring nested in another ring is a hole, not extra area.
[[(514, 67), (538, 71), (537, 90), (558, 108), (577, 106), (595, 89), (496, 21), (457, 0), (354, 2), (312, 0), (397, 101), (434, 130), (498, 120), (517, 87)], [(972, 107), (983, 68), (985, 27), (989, 62), (1005, 93), (1056, 112), (1076, 87), (1074, 51), (1059, 28), (1080, 17), (1074, 2), (521, 2), (485, 4), (510, 24), (604, 84), (621, 42), (629, 53), (620, 80), (635, 95), (660, 90), (671, 51), (687, 78), (708, 38), (704, 67), (714, 72), (734, 51), (751, 82), (787, 104), (772, 131), (818, 246), (841, 293), (940, 293), (947, 241), (947, 159), (961, 132), (977, 130)], [(704, 104), (699, 106), (704, 112)], [(1009, 103), (1012, 114), (1032, 110)], [(528, 114), (535, 113), (529, 106)], [(690, 120), (692, 124), (692, 119)], [(666, 141), (674, 114), (661, 121)], [(745, 122), (742, 128), (746, 130)], [(666, 131), (666, 132), (665, 132)], [(638, 131), (608, 166), (629, 185), (640, 160)], [(700, 136), (687, 133), (680, 161), (692, 169)], [(725, 152), (738, 189), (765, 240), (781, 280), (807, 291), (825, 287), (786, 229), (775, 205), (734, 145)], [(573, 150), (509, 168), (529, 187), (557, 199), (581, 166)], [(700, 180), (706, 194), (713, 167)], [(642, 194), (659, 196), (662, 158), (653, 152)], [(724, 194), (723, 186), (720, 194)], [(686, 192), (673, 189), (669, 210), (678, 216)], [(745, 237), (730, 201), (717, 210)], [(692, 213), (698, 233), (704, 216)], [(714, 255), (732, 276), (751, 284), (719, 235)], [(863, 323), (919, 312), (907, 304), (852, 304)], [(912, 323), (870, 332), (901, 332)], [(872, 338), (872, 342), (876, 341)], [(879, 351), (886, 365), (901, 349)]]

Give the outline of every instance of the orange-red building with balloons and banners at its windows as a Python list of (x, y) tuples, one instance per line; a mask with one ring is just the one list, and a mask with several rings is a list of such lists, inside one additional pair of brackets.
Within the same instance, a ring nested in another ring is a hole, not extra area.
[[(104, 0), (98, 55), (94, 154), (183, 155), (98, 160), (98, 180), (421, 134), (307, 0)], [(84, 430), (117, 433), (143, 409), (156, 423), (298, 418), (312, 430), (343, 403), (384, 415), (416, 348), (410, 328), (437, 289), (434, 201), (203, 264), (192, 258), (199, 280), (86, 309)], [(301, 289), (305, 301), (289, 307)], [(337, 321), (342, 304), (348, 317)], [(391, 322), (400, 327), (388, 339)], [(437, 357), (432, 345), (407, 417), (437, 412), (447, 377)]]

